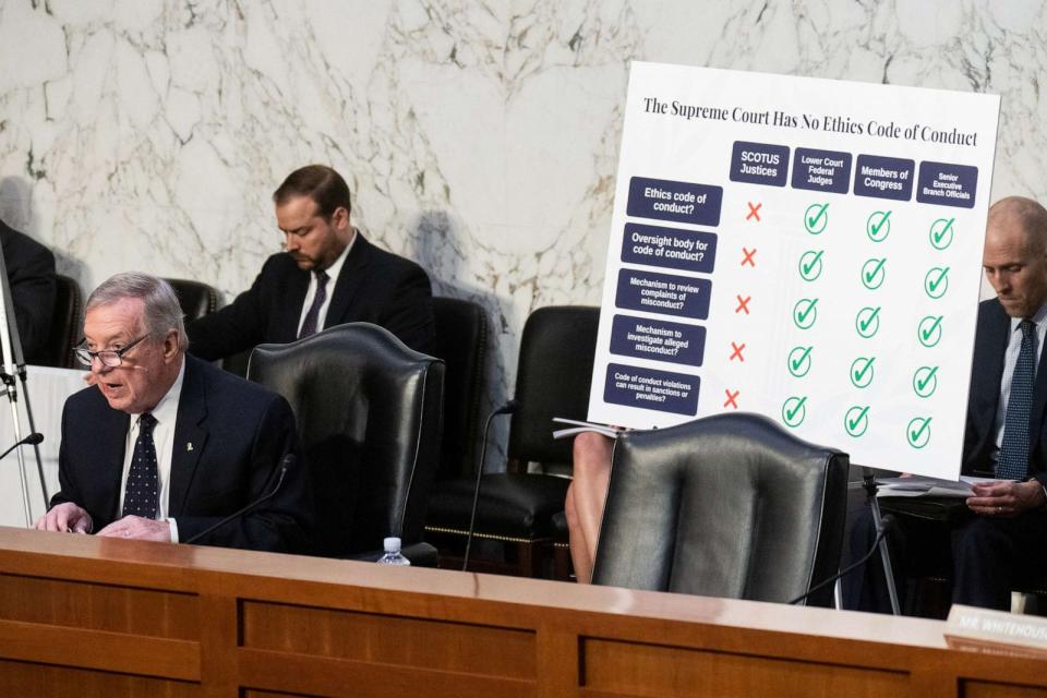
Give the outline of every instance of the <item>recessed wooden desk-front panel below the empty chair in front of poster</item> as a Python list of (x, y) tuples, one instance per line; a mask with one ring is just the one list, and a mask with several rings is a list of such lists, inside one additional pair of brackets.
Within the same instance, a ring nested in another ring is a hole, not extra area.
[(896, 672), (594, 638), (582, 641), (581, 663), (587, 688), (652, 698), (761, 696), (768, 686), (775, 687), (775, 698), (895, 698), (905, 693), (907, 678)]

